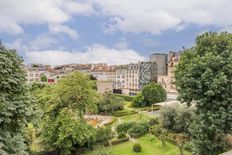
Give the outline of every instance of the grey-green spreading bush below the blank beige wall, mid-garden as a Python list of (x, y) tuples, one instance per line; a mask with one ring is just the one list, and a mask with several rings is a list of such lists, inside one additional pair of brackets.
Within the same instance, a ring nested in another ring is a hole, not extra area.
[(99, 112), (112, 112), (117, 110), (123, 110), (124, 100), (121, 97), (117, 97), (111, 93), (105, 93), (102, 96), (101, 101), (98, 104)]

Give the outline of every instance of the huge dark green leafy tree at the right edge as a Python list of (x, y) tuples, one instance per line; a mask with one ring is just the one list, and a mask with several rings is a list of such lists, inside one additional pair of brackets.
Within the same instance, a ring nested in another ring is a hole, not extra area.
[(232, 34), (205, 33), (185, 49), (175, 71), (180, 100), (196, 106), (194, 154), (219, 154), (232, 130)]

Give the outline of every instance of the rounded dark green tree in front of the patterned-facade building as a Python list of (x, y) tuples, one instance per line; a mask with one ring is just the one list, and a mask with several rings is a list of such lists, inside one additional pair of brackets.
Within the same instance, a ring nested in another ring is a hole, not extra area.
[(157, 83), (145, 85), (142, 89), (142, 95), (148, 105), (163, 102), (167, 98), (165, 89)]

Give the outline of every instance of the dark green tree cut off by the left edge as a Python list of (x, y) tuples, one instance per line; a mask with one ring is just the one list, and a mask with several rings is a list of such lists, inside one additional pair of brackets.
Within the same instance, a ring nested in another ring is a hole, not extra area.
[(24, 135), (35, 106), (26, 84), (23, 60), (0, 44), (0, 154), (28, 154)]

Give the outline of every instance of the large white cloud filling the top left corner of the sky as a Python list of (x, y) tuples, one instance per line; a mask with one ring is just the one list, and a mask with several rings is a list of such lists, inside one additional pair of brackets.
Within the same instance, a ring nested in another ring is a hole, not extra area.
[[(73, 14), (91, 14), (92, 5), (76, 0), (1, 0), (0, 1), (0, 32), (20, 34), (24, 30), (21, 25), (31, 24), (64, 24)], [(74, 30), (63, 27), (75, 37)]]

